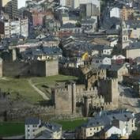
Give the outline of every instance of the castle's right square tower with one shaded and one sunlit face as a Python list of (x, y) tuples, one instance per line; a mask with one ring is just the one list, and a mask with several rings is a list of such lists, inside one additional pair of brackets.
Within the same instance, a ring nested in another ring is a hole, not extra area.
[(118, 106), (118, 79), (102, 79), (99, 81), (99, 94), (105, 98), (105, 102)]

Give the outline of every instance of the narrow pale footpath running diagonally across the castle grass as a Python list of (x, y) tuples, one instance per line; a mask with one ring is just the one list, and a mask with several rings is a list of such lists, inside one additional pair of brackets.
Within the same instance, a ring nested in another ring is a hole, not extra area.
[(32, 80), (31, 80), (31, 79), (29, 79), (28, 82), (29, 82), (30, 86), (31, 86), (37, 93), (39, 93), (39, 94), (42, 96), (42, 98), (43, 98), (44, 100), (49, 100), (49, 98), (46, 96), (46, 94), (45, 94), (44, 92), (42, 92), (41, 90), (39, 90), (39, 89), (32, 83)]

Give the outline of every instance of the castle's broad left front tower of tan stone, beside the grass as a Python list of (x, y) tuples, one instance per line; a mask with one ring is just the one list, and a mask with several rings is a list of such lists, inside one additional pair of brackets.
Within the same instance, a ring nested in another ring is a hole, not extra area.
[(76, 113), (76, 84), (74, 82), (54, 89), (52, 97), (56, 114), (72, 115)]

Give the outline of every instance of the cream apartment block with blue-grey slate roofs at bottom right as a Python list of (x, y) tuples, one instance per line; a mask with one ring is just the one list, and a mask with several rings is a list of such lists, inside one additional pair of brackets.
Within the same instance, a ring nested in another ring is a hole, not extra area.
[[(129, 137), (136, 130), (135, 115), (128, 111), (103, 111), (91, 118), (87, 123), (76, 129), (76, 138), (88, 139), (93, 138), (95, 134), (100, 133), (106, 128), (109, 130), (114, 127), (117, 131), (111, 131), (111, 134), (118, 134), (122, 137)], [(118, 133), (117, 133), (118, 132)], [(108, 133), (108, 138), (110, 133)]]

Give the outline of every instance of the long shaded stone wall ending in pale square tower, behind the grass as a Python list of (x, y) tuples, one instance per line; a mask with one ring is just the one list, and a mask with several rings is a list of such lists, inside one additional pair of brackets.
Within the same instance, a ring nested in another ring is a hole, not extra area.
[(5, 77), (58, 75), (58, 61), (4, 61), (1, 67)]

